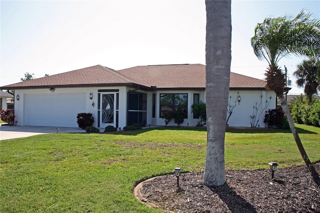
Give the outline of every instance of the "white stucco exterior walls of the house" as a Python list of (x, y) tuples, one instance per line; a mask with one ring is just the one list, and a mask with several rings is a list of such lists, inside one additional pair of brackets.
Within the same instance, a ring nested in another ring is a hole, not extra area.
[[(19, 100), (15, 100), (14, 104), (14, 113), (15, 113), (15, 120), (18, 121), (17, 125), (26, 125), (26, 118), (25, 118), (25, 96), (28, 94), (39, 94), (39, 95), (56, 95), (56, 94), (83, 94), (85, 99), (85, 106), (84, 111), (74, 111), (74, 119), (76, 120), (76, 114), (80, 112), (90, 112), (93, 114), (94, 117), (94, 126), (97, 126), (97, 110), (98, 110), (98, 90), (99, 89), (118, 89), (119, 91), (119, 120), (118, 126), (123, 128), (126, 125), (126, 108), (127, 108), (127, 91), (129, 87), (78, 87), (78, 88), (55, 88), (54, 92), (51, 92), (48, 88), (41, 88), (41, 89), (16, 89), (15, 95), (19, 95)], [(202, 102), (205, 102), (205, 92), (204, 91), (178, 91), (178, 90), (161, 90), (161, 91), (142, 91), (137, 90), (139, 92), (147, 93), (147, 120), (146, 124), (151, 125), (162, 125), (164, 126), (164, 119), (159, 117), (159, 105), (160, 93), (187, 93), (188, 94), (188, 116), (184, 119), (182, 126), (195, 126), (198, 122), (198, 119), (193, 118), (193, 114), (191, 113), (191, 105), (193, 103), (193, 94), (198, 93), (199, 99)], [(233, 109), (233, 113), (229, 118), (228, 124), (229, 126), (248, 126), (250, 127), (250, 115), (253, 111), (253, 105), (261, 102), (258, 107), (259, 121), (257, 125), (260, 127), (264, 127), (263, 118), (264, 118), (264, 111), (267, 109), (275, 108), (275, 94), (273, 91), (265, 91), (265, 90), (234, 90), (230, 91), (231, 95), (231, 104), (234, 104), (234, 98), (236, 97), (236, 92), (239, 92), (240, 95), (240, 102), (236, 101), (236, 106)], [(92, 99), (89, 99), (89, 93), (92, 93)], [(155, 105), (155, 118), (152, 118), (152, 93), (155, 93), (156, 105)], [(262, 95), (262, 98), (261, 98)], [(268, 97), (271, 95), (271, 100)], [(14, 97), (15, 98), (15, 97)], [(269, 105), (266, 109), (265, 107), (265, 100), (270, 101)], [(68, 101), (68, 100), (65, 100)], [(94, 106), (92, 106), (92, 102), (94, 102)], [(39, 108), (39, 113), (45, 119), (45, 114)], [(42, 114), (41, 114), (42, 113)], [(257, 119), (256, 119), (257, 120)], [(176, 124), (172, 121), (169, 125), (175, 126)], [(77, 127), (77, 126), (74, 126)]]

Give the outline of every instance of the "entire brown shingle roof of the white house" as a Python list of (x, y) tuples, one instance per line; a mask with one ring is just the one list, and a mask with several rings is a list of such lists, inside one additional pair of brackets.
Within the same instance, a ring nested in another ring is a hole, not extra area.
[[(75, 86), (135, 85), (151, 89), (205, 89), (205, 65), (147, 65), (114, 70), (102, 65), (90, 66), (60, 74), (26, 80), (2, 86), (3, 89), (75, 87)], [(230, 88), (264, 89), (265, 81), (230, 73)]]

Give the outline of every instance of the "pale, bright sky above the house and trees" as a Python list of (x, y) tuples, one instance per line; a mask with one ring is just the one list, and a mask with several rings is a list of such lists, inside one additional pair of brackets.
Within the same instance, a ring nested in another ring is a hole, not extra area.
[[(250, 37), (267, 16), (320, 17), (319, 0), (232, 0), (231, 71), (263, 79)], [(205, 64), (204, 0), (0, 1), (0, 85), (101, 64)], [(302, 58), (283, 58), (288, 77)], [(290, 93), (301, 93), (292, 86)]]

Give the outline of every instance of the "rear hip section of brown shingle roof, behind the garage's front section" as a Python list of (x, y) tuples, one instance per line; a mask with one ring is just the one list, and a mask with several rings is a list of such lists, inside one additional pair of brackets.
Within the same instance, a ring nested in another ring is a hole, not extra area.
[[(139, 80), (145, 86), (157, 88), (205, 88), (205, 65), (173, 64), (135, 66), (117, 72)], [(265, 81), (234, 72), (230, 73), (230, 87), (264, 88)]]

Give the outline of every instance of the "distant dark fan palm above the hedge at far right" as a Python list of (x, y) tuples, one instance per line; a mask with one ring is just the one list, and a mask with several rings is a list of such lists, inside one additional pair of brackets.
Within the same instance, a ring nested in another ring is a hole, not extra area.
[(311, 102), (312, 95), (316, 94), (317, 88), (319, 86), (319, 81), (317, 76), (320, 75), (320, 61), (311, 58), (309, 60), (302, 60), (301, 63), (297, 64), (296, 71), (293, 75), (296, 76), (295, 83), (298, 87), (304, 86), (304, 94), (308, 97), (308, 103)]

